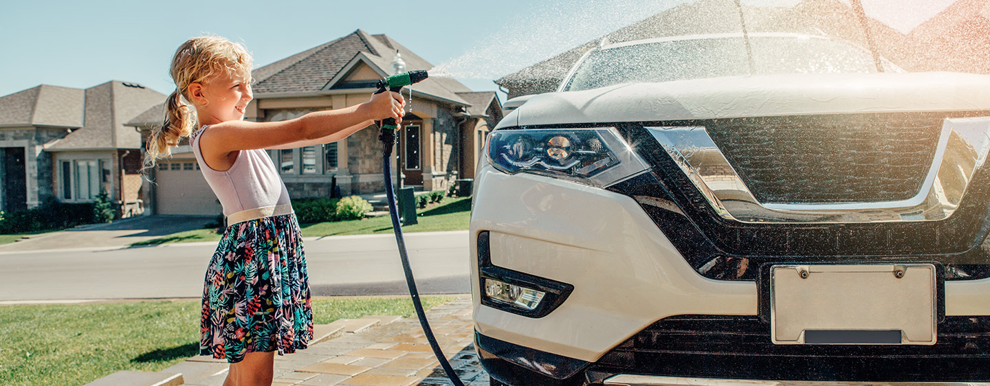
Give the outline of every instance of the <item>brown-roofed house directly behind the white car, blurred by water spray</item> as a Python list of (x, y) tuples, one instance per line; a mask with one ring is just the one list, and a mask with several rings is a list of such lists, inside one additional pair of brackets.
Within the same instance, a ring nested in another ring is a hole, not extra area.
[[(748, 32), (791, 32), (824, 35), (866, 48), (862, 25), (840, 0), (803, 0), (792, 7), (742, 5)], [(735, 0), (700, 0), (682, 4), (571, 48), (495, 81), (508, 98), (556, 90), (570, 67), (589, 49), (608, 43), (684, 35), (741, 33)], [(867, 18), (881, 55), (912, 71), (951, 70), (990, 73), (990, 3), (959, 0), (905, 35)]]

